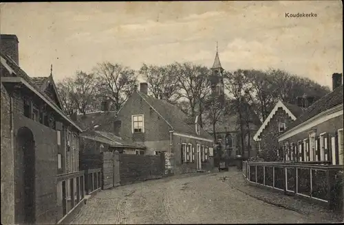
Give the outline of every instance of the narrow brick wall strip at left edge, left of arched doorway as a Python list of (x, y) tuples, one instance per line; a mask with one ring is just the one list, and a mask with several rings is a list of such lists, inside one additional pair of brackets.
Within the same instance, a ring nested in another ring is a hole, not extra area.
[(14, 224), (14, 155), (10, 95), (1, 84), (1, 224)]

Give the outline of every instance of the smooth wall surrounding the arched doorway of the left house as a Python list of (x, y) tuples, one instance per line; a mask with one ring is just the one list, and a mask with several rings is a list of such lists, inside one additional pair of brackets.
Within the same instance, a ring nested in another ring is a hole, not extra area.
[[(35, 144), (35, 194), (36, 194), (36, 223), (53, 224), (57, 221), (56, 215), (56, 175), (57, 175), (57, 141), (56, 131), (32, 119), (14, 114), (14, 134), (19, 128), (29, 128), (34, 137)], [(16, 137), (14, 136), (14, 140)], [(16, 173), (22, 172), (21, 150), (14, 150)], [(17, 180), (19, 181), (19, 180)], [(23, 189), (21, 182), (17, 182), (16, 190)], [(17, 192), (17, 191), (16, 191)], [(22, 202), (19, 199), (19, 202)], [(18, 211), (19, 213), (19, 211)], [(19, 213), (20, 214), (20, 213)], [(20, 215), (19, 215), (20, 216)]]

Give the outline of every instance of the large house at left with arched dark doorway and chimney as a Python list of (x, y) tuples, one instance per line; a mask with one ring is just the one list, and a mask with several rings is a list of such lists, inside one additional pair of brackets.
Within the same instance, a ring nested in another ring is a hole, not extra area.
[(1, 34), (1, 222), (54, 224), (72, 187), (58, 178), (79, 170), (82, 129), (63, 112), (52, 75), (37, 85), (19, 67), (18, 43)]

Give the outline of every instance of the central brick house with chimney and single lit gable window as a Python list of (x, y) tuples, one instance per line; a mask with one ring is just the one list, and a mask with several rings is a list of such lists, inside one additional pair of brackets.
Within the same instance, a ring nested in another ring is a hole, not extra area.
[(165, 152), (171, 171), (185, 174), (213, 168), (213, 138), (200, 126), (199, 117), (187, 122), (179, 108), (147, 95), (140, 84), (118, 111), (121, 137), (147, 147), (147, 154)]

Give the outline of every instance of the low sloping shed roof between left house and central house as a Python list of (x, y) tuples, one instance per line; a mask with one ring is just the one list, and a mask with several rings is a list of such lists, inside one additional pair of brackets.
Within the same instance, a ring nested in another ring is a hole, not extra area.
[(111, 147), (133, 147), (140, 149), (145, 148), (143, 145), (139, 145), (138, 143), (133, 143), (128, 140), (123, 140), (114, 134), (104, 131), (89, 130), (80, 134), (80, 137), (83, 137), (85, 139), (92, 139), (100, 143), (106, 143)]

